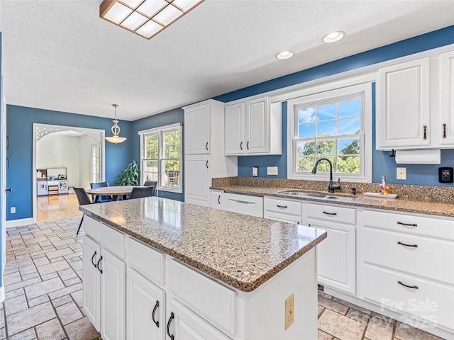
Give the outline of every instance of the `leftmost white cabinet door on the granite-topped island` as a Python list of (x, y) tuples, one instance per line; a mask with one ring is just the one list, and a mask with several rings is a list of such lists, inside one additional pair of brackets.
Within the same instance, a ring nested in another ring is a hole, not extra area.
[(96, 331), (99, 331), (101, 317), (101, 278), (96, 267), (100, 257), (101, 246), (85, 234), (84, 245), (82, 246), (84, 312)]

